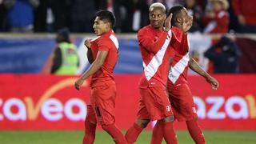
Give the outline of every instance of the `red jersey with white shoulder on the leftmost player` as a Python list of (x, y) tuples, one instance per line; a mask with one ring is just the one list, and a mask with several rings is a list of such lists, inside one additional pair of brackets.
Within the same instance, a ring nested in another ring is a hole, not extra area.
[(114, 80), (113, 70), (118, 61), (118, 39), (112, 30), (106, 34), (91, 40), (90, 46), (93, 58), (96, 59), (98, 51), (107, 51), (105, 62), (102, 67), (96, 71), (90, 81), (90, 86), (96, 86), (102, 82)]

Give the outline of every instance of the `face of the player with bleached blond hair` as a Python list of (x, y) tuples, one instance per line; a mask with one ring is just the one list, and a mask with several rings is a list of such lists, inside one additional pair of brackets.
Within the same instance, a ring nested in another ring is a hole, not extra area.
[(153, 7), (150, 10), (150, 25), (154, 27), (154, 29), (162, 29), (162, 26), (166, 20), (166, 12), (162, 8)]

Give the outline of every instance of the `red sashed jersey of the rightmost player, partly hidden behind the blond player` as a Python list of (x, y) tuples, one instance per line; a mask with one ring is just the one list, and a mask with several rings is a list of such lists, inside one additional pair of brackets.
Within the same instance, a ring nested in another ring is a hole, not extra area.
[[(175, 29), (179, 30), (175, 27)], [(182, 33), (182, 30), (179, 30)], [(171, 55), (174, 57), (171, 63), (168, 79), (173, 84), (182, 84), (187, 82), (187, 71), (190, 62), (189, 41), (187, 34), (182, 33), (182, 41), (180, 43), (171, 43), (173, 50)]]

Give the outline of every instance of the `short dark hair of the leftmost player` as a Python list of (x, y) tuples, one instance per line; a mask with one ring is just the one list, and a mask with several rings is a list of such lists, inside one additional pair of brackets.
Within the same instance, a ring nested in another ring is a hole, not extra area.
[(102, 21), (107, 21), (110, 22), (110, 27), (111, 29), (114, 28), (115, 25), (115, 17), (114, 14), (108, 10), (99, 10), (96, 14), (96, 16), (102, 20)]

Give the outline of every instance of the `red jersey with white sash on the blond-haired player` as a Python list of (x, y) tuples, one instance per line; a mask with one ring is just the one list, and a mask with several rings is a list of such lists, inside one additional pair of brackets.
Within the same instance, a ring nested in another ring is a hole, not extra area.
[(168, 33), (145, 26), (138, 31), (138, 46), (144, 70), (139, 82), (141, 88), (166, 86), (169, 69), (170, 41), (176, 41), (172, 30)]

